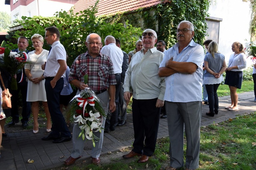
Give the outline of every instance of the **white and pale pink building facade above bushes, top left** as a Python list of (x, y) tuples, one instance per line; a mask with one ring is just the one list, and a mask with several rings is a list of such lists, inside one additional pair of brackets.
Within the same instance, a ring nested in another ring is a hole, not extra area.
[(70, 10), (70, 8), (78, 0), (18, 0), (15, 4), (11, 5), (11, 18), (16, 19), (17, 13), (19, 19), (21, 16), (53, 16), (56, 11)]

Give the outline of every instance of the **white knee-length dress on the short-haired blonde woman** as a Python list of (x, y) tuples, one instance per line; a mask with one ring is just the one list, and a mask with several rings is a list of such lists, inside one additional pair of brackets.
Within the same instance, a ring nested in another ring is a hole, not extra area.
[[(41, 54), (35, 54), (34, 51), (28, 53), (27, 61), (33, 61), (36, 63), (26, 64), (25, 69), (29, 69), (32, 78), (40, 77), (43, 75), (44, 70), (41, 69), (41, 64), (47, 60), (49, 51), (43, 50)], [(32, 68), (31, 68), (32, 67)], [(44, 81), (39, 84), (34, 84), (32, 81), (28, 81), (27, 101), (47, 101)]]

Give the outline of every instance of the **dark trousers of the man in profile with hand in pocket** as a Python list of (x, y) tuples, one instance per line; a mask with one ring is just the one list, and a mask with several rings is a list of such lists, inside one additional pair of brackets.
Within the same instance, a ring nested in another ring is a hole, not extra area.
[[(50, 81), (53, 79), (45, 78), (44, 86), (46, 91), (47, 104), (52, 119), (52, 132), (50, 133), (53, 137), (70, 137), (71, 132), (66, 125), (65, 119), (59, 109), (59, 95), (63, 89), (64, 80), (60, 78), (54, 88), (52, 88)], [(59, 135), (60, 133), (60, 135)]]

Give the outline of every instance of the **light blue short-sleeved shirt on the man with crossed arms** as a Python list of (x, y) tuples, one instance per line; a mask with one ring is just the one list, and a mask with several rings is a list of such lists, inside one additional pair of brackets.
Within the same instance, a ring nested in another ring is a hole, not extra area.
[(173, 57), (173, 61), (192, 62), (197, 65), (197, 70), (193, 74), (175, 73), (166, 77), (166, 91), (164, 100), (172, 102), (202, 101), (203, 84), (203, 47), (193, 40), (180, 53), (179, 44), (176, 43), (169, 48), (164, 56), (160, 67), (165, 67), (167, 60)]

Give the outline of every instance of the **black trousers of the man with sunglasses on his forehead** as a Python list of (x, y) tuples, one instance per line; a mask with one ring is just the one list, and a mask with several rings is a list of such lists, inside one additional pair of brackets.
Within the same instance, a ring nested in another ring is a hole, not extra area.
[[(133, 151), (138, 154), (152, 156), (157, 142), (157, 132), (160, 119), (160, 107), (156, 107), (157, 98), (133, 98)], [(145, 146), (144, 146), (145, 139)]]

